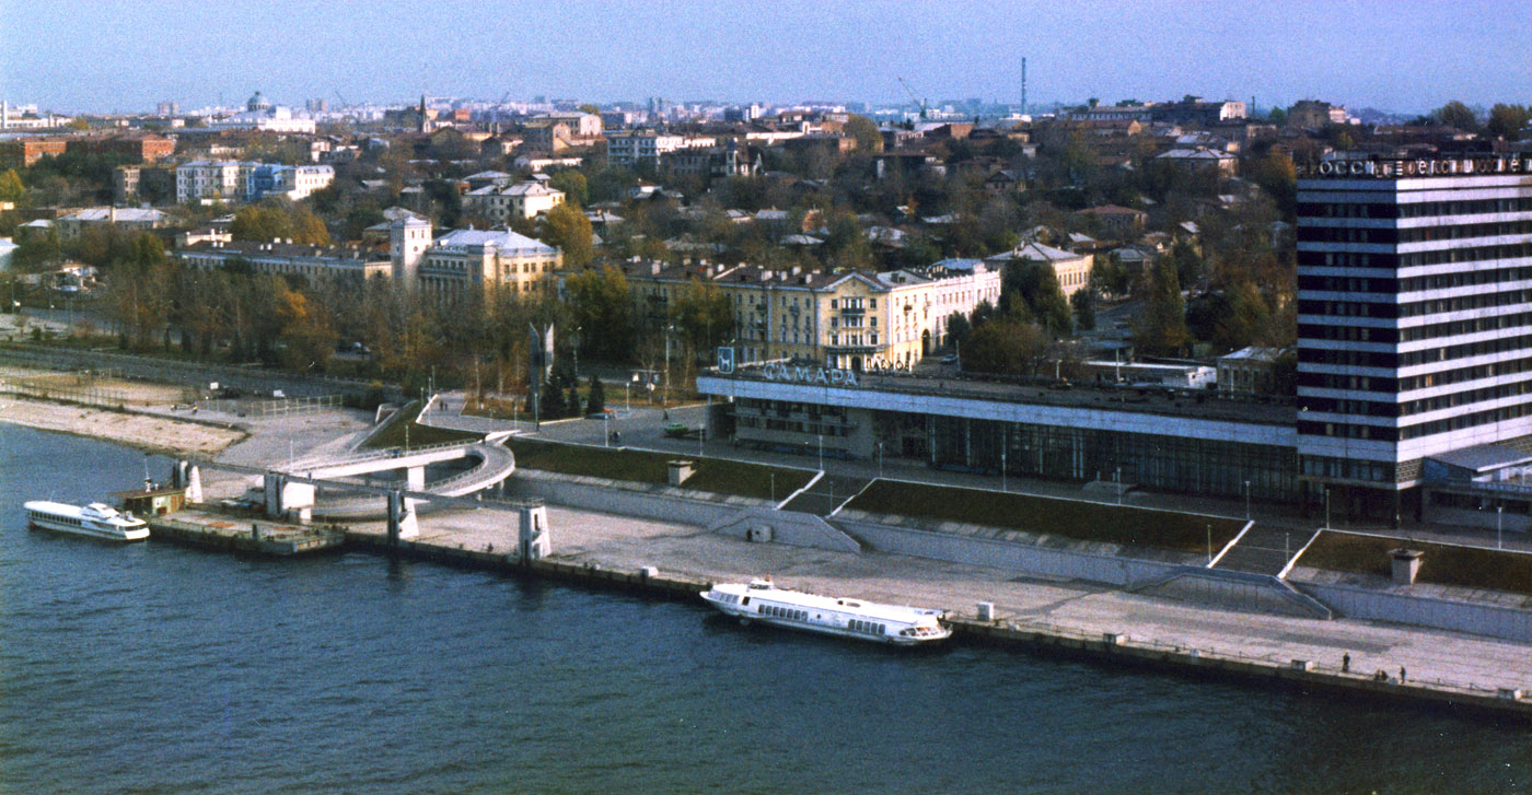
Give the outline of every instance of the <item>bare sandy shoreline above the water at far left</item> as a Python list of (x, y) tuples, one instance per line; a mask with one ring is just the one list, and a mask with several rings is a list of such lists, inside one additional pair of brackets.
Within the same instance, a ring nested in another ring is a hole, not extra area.
[(236, 427), (214, 427), (156, 414), (119, 412), (15, 395), (0, 395), (0, 423), (74, 433), (158, 453), (213, 455), (248, 437)]

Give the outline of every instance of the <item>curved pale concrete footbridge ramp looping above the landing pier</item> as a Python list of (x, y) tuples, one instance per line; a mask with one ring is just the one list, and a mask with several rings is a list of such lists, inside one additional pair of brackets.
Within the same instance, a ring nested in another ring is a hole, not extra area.
[[(377, 486), (371, 475), (404, 470), (398, 486), (406, 492), (434, 496), (458, 498), (483, 492), (516, 472), (516, 460), (501, 444), (509, 433), (490, 433), (484, 441), (453, 441), (424, 447), (389, 447), (337, 455), (313, 455), (273, 467), (270, 476), (283, 479), (323, 481), (329, 493), (316, 493), (311, 504), (314, 516), (329, 519), (357, 519), (386, 515), (385, 505), (366, 492), (346, 486)], [(472, 469), (453, 472), (435, 481), (426, 481), (426, 467), (453, 461), (475, 460)], [(277, 486), (280, 489), (280, 486)], [(340, 493), (336, 493), (340, 492)]]

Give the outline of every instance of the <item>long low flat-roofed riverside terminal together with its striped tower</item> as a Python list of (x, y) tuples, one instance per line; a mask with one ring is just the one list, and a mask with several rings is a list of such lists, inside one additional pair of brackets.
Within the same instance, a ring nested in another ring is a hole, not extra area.
[(855, 374), (824, 357), (725, 355), (697, 384), (725, 404), (714, 433), (740, 444), (1529, 525), (1532, 161), (1305, 168), (1298, 300), (1296, 400)]

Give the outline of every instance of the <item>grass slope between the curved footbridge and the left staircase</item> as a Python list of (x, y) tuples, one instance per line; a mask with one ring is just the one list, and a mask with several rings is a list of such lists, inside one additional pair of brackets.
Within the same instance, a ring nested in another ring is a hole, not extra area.
[(518, 467), (542, 469), (564, 475), (588, 475), (614, 481), (668, 483), (668, 461), (696, 461), (696, 470), (683, 484), (685, 489), (761, 499), (772, 496), (774, 473), (777, 495), (792, 493), (813, 476), (812, 472), (801, 469), (781, 469), (723, 458), (697, 458), (647, 450), (608, 450), (604, 447), (558, 444), (518, 437), (506, 440), (506, 446), (516, 453)]

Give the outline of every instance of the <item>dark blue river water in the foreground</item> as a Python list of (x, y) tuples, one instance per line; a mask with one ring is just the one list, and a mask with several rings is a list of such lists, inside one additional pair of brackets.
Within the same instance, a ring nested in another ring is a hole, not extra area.
[[(167, 469), (153, 460), (153, 475)], [(741, 628), (372, 555), (28, 530), (144, 455), (0, 424), (0, 792), (1527, 792), (1532, 734)]]

